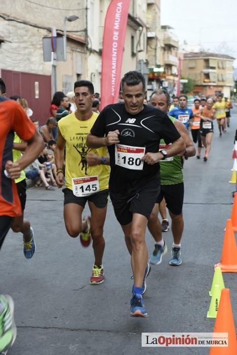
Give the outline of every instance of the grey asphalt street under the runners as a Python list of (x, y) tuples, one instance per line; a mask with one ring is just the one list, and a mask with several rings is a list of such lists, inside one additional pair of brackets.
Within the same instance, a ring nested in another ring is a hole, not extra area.
[[(147, 318), (130, 317), (130, 257), (111, 202), (104, 236), (105, 281), (89, 285), (92, 246), (70, 238), (63, 221), (61, 190), (27, 191), (25, 217), (36, 238), (31, 260), (23, 255), (22, 235), (9, 232), (1, 251), (1, 292), (15, 301), (17, 339), (9, 355), (186, 355), (209, 353), (207, 347), (141, 347), (142, 332), (212, 332), (207, 318), (214, 264), (220, 261), (224, 227), (232, 208), (229, 184), (237, 109), (219, 138), (217, 124), (207, 163), (189, 158), (184, 165), (182, 265), (169, 265), (171, 231), (164, 233), (168, 254), (152, 266), (147, 279)], [(203, 153), (204, 155), (204, 153)], [(88, 212), (86, 207), (85, 214)], [(149, 252), (152, 238), (146, 235)], [(237, 274), (224, 273), (237, 326)]]

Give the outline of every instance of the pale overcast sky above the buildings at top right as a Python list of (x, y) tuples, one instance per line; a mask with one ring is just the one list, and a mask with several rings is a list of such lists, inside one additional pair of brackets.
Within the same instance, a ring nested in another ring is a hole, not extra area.
[(237, 58), (237, 0), (161, 0), (161, 24), (174, 27), (180, 43)]

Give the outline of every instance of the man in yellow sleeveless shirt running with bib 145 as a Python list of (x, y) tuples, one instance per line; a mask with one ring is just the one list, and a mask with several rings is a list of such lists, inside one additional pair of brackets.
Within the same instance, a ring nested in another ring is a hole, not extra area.
[[(77, 110), (58, 122), (55, 162), (57, 185), (64, 185), (63, 161), (65, 156), (64, 222), (67, 233), (75, 238), (80, 234), (83, 246), (89, 246), (91, 238), (95, 262), (90, 283), (104, 281), (102, 257), (105, 247), (103, 226), (107, 211), (109, 159), (106, 147), (89, 149), (86, 137), (90, 133), (98, 114), (92, 111), (94, 87), (90, 81), (74, 84)], [(88, 202), (91, 217), (82, 221), (82, 212)]]

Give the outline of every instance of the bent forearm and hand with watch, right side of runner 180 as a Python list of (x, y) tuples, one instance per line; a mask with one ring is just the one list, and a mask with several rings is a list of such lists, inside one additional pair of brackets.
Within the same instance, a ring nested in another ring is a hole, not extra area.
[[(185, 128), (185, 127), (184, 127)], [(186, 128), (185, 128), (186, 129)], [(184, 152), (186, 148), (186, 145), (184, 143), (184, 139), (182, 137), (179, 137), (176, 139), (172, 145), (166, 149), (167, 151), (167, 158), (173, 157), (174, 155), (178, 155), (181, 152)], [(146, 153), (141, 160), (145, 161), (147, 164), (153, 165), (156, 163), (159, 163), (163, 159), (163, 154), (160, 152), (157, 153)]]

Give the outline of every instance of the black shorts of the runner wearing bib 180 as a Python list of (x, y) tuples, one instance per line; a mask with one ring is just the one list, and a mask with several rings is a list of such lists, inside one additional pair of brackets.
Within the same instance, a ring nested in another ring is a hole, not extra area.
[(125, 226), (132, 222), (134, 213), (143, 215), (148, 219), (159, 193), (160, 186), (158, 183), (155, 187), (146, 186), (141, 191), (134, 192), (129, 196), (110, 191), (109, 196), (117, 221)]

